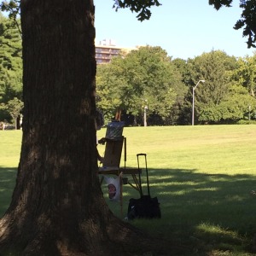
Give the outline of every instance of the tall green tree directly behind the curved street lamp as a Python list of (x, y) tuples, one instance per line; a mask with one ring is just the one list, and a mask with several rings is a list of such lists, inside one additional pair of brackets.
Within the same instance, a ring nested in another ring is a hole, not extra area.
[[(216, 108), (229, 91), (230, 70), (236, 67), (236, 58), (222, 51), (212, 50), (210, 53), (195, 57), (192, 62), (195, 72), (192, 86), (201, 79), (206, 80), (195, 90), (195, 120), (215, 122), (218, 116), (214, 116), (214, 113), (217, 113)], [(201, 118), (201, 113), (204, 113), (204, 119)], [(206, 113), (211, 114), (207, 117)]]

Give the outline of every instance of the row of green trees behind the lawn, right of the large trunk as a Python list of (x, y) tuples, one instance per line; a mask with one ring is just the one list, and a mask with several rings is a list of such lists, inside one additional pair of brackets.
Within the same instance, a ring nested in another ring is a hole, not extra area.
[(98, 105), (108, 118), (122, 108), (142, 120), (147, 106), (149, 125), (188, 125), (192, 87), (205, 79), (195, 90), (195, 120), (236, 123), (248, 118), (249, 106), (254, 119), (254, 63), (255, 56), (236, 60), (220, 50), (172, 61), (163, 49), (143, 47), (98, 67)]

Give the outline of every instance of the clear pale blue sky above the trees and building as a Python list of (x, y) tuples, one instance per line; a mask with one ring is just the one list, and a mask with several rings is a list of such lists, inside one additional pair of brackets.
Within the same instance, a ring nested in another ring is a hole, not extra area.
[(96, 44), (111, 39), (116, 46), (160, 46), (172, 59), (187, 60), (204, 52), (223, 50), (228, 55), (245, 57), (247, 49), (242, 29), (233, 27), (241, 18), (239, 0), (231, 8), (218, 11), (208, 0), (159, 0), (151, 9), (150, 20), (137, 20), (130, 9), (113, 9), (113, 0), (94, 0), (96, 6)]

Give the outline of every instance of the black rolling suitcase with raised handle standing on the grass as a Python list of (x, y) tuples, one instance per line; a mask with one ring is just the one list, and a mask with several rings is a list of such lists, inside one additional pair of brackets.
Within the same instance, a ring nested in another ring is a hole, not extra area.
[(139, 156), (145, 157), (148, 195), (143, 195), (141, 173), (139, 172), (139, 187), (141, 198), (131, 198), (128, 205), (127, 218), (161, 218), (160, 203), (157, 197), (151, 197), (148, 182), (147, 154), (137, 154), (137, 167), (140, 169)]

